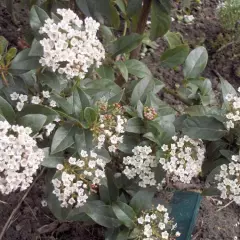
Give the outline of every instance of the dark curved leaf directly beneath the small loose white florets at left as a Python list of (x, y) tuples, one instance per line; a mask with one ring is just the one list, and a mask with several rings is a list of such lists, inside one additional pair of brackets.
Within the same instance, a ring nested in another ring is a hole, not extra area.
[(39, 113), (47, 117), (47, 121), (45, 122), (45, 124), (53, 122), (55, 118), (58, 116), (58, 113), (54, 111), (52, 108), (49, 108), (43, 105), (35, 105), (35, 104), (25, 105), (23, 110), (20, 112), (20, 116), (25, 116), (28, 114), (39, 114)]

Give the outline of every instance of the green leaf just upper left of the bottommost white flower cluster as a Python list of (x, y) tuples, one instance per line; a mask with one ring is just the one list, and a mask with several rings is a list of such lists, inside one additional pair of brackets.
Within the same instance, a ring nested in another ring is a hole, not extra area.
[(113, 211), (117, 218), (128, 228), (134, 227), (136, 214), (134, 210), (124, 202), (117, 201), (112, 204)]

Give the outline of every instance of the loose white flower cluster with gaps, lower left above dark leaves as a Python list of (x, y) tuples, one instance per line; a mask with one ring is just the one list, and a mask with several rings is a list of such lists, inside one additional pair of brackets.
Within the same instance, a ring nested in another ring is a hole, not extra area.
[(60, 178), (52, 180), (53, 194), (58, 197), (61, 207), (69, 205), (76, 208), (84, 205), (88, 199), (88, 188), (92, 184), (100, 184), (105, 177), (105, 161), (98, 158), (97, 154), (91, 151), (81, 151), (81, 158), (70, 157), (68, 162), (58, 164), (57, 169), (61, 171)]

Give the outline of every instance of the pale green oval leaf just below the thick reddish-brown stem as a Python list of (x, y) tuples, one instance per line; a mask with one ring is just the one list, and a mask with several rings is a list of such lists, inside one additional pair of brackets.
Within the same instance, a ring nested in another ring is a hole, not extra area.
[(151, 77), (152, 73), (148, 67), (143, 63), (135, 59), (125, 61), (128, 72), (138, 78)]

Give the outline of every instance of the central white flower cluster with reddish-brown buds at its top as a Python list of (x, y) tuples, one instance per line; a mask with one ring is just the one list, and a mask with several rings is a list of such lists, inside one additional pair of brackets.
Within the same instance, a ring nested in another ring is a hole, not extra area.
[(92, 127), (97, 148), (101, 149), (107, 143), (109, 152), (116, 152), (117, 147), (123, 142), (123, 133), (127, 119), (123, 116), (120, 104), (108, 105), (101, 101), (99, 105), (99, 121)]

